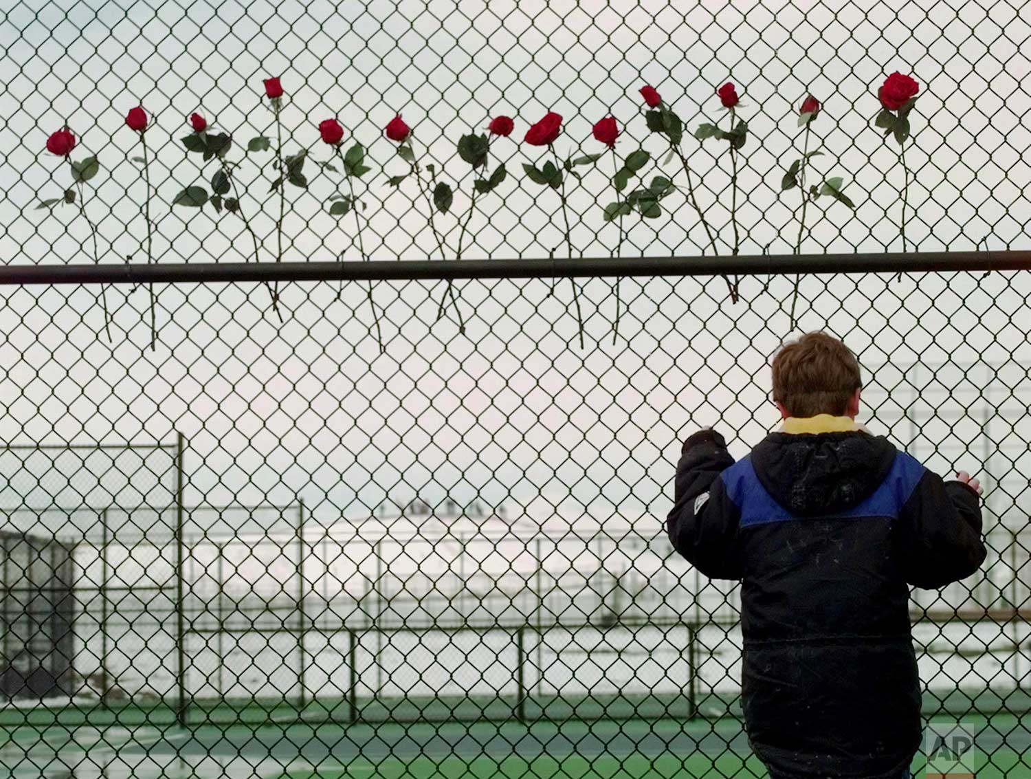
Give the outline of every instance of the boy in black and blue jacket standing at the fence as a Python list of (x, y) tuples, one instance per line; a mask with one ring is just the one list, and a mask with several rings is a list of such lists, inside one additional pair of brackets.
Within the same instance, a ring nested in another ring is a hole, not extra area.
[(784, 418), (734, 462), (720, 433), (684, 444), (670, 541), (741, 581), (741, 703), (771, 779), (901, 779), (921, 743), (907, 585), (985, 559), (980, 485), (942, 482), (856, 423), (859, 362), (810, 332), (773, 359)]

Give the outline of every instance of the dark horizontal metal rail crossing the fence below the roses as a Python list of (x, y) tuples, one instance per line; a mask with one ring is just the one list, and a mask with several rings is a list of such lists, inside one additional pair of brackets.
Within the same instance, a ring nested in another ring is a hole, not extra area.
[(1031, 269), (1031, 251), (760, 254), (710, 257), (576, 257), (370, 262), (203, 262), (0, 265), (0, 285), (781, 275)]

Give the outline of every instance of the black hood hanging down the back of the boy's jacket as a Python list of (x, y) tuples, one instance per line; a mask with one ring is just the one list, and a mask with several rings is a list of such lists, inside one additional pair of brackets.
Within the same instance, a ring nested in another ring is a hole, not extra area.
[(898, 450), (863, 431), (784, 433), (752, 450), (752, 465), (774, 500), (796, 515), (844, 511), (869, 497)]

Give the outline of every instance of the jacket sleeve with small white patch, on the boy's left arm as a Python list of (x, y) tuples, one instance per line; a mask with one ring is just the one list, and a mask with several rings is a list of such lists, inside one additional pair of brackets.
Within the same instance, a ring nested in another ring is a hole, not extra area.
[(673, 548), (712, 579), (740, 579), (736, 540), (740, 512), (720, 475), (734, 464), (724, 437), (700, 430), (684, 443), (666, 530)]

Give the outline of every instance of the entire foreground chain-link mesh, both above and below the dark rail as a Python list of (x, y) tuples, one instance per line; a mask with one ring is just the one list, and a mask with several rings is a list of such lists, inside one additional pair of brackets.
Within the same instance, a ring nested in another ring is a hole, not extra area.
[[(720, 279), (633, 275), (712, 249), (1031, 247), (1029, 32), (1023, 3), (965, 0), (8, 3), (5, 264), (611, 256), (628, 275), (4, 288), (0, 773), (765, 776), (738, 588), (662, 520), (686, 434), (716, 425), (740, 456), (774, 426), (768, 360), (797, 315), (859, 354), (872, 430), (985, 482), (982, 572), (911, 599), (923, 713), (970, 724), (986, 776), (1031, 775), (1028, 278), (807, 278), (795, 305), (793, 278), (731, 302)], [(921, 88), (904, 167), (875, 125), (894, 70)], [(692, 135), (729, 129), (728, 79), (733, 162)], [(553, 109), (562, 159), (603, 153), (564, 202), (523, 172)], [(185, 140), (193, 112), (231, 142)], [(396, 113), (422, 178), (384, 137)], [(457, 141), (499, 115), (492, 184)], [(592, 137), (609, 115), (616, 153)], [(361, 161), (320, 139), (330, 118)], [(65, 125), (73, 166), (44, 151)], [(638, 198), (606, 221), (635, 150), (676, 189), (660, 218)], [(854, 209), (781, 191), (817, 150), (809, 174), (843, 176)]]

